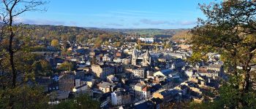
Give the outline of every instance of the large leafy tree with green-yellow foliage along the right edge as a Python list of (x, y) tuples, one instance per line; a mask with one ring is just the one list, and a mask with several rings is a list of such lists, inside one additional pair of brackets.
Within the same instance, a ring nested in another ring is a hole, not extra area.
[[(206, 20), (198, 20), (192, 29), (192, 60), (205, 61), (208, 53), (221, 55), (229, 76), (219, 91), (220, 108), (256, 108), (256, 91), (252, 89), (252, 66), (256, 56), (256, 3), (229, 0), (203, 4)], [(215, 104), (215, 103), (214, 103)]]

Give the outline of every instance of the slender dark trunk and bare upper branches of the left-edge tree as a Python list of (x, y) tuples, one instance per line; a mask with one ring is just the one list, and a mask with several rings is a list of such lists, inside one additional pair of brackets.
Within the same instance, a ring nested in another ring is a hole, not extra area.
[[(18, 79), (18, 71), (17, 65), (15, 65), (15, 52), (18, 49), (15, 47), (18, 46), (18, 41), (15, 36), (18, 30), (18, 25), (15, 24), (15, 18), (18, 18), (19, 15), (22, 15), (25, 12), (29, 11), (37, 11), (42, 10), (37, 8), (46, 4), (46, 1), (37, 1), (37, 0), (1, 0), (0, 1), (0, 20), (1, 23), (4, 23), (1, 29), (4, 31), (1, 33), (2, 38), (6, 38), (8, 40), (7, 47), (7, 55), (8, 62), (10, 65), (10, 73), (11, 73), (11, 89), (15, 89), (17, 87), (17, 79)], [(14, 108), (15, 100), (14, 95), (10, 95), (9, 108)]]

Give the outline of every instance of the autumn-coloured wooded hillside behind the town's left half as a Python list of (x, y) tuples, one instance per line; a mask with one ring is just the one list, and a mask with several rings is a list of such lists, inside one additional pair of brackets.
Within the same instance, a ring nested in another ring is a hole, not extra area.
[[(59, 39), (60, 41), (99, 41), (99, 39), (120, 40), (121, 33), (101, 31), (99, 29), (88, 29), (62, 25), (23, 25), (24, 29), (28, 29), (31, 38), (37, 41), (51, 41)], [(26, 34), (20, 33), (19, 36)]]

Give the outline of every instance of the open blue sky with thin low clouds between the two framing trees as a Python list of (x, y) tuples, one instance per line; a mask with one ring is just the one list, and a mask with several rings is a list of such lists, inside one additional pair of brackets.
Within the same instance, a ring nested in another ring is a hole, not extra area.
[(90, 28), (192, 28), (204, 18), (198, 4), (210, 0), (50, 0), (46, 12), (26, 12), (18, 20), (37, 25)]

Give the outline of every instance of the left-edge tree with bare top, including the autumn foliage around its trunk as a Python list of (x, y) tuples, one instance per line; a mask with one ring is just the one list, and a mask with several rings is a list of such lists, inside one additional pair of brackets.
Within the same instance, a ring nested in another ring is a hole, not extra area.
[[(15, 108), (17, 105), (17, 97), (15, 97), (15, 92), (21, 88), (21, 84), (24, 83), (24, 79), (18, 81), (18, 78), (23, 78), (29, 75), (26, 75), (28, 72), (23, 72), (18, 65), (18, 58), (21, 55), (28, 54), (25, 51), (21, 51), (26, 47), (26, 42), (29, 42), (26, 36), (17, 36), (17, 33), (22, 31), (22, 28), (15, 23), (15, 18), (18, 18), (19, 15), (24, 12), (37, 11), (41, 10), (37, 8), (46, 4), (45, 1), (37, 0), (1, 0), (0, 1), (0, 21), (3, 23), (1, 26), (1, 44), (3, 41), (6, 41), (6, 48), (1, 48), (1, 62), (4, 62), (4, 65), (1, 68), (2, 71), (1, 78), (7, 80), (4, 82), (4, 85), (1, 86), (4, 90), (1, 93), (1, 98), (9, 98), (8, 106), (4, 108)], [(29, 55), (27, 55), (29, 56)], [(29, 61), (26, 61), (29, 62)], [(26, 65), (30, 66), (30, 65)], [(29, 71), (28, 69), (26, 71)], [(26, 79), (27, 80), (27, 79)], [(19, 82), (19, 83), (18, 83)], [(10, 92), (10, 93), (5, 93)]]

